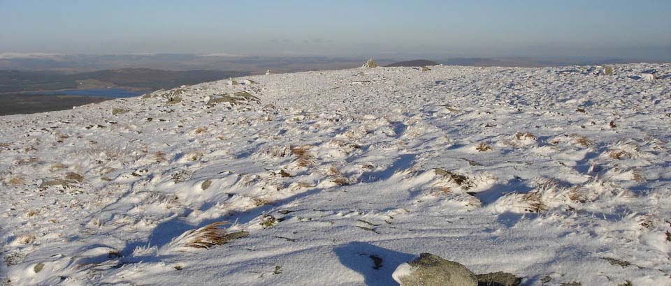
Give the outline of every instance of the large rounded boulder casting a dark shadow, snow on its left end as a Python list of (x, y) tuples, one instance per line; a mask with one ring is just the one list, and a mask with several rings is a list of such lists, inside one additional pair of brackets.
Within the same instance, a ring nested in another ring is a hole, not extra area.
[(403, 263), (391, 275), (401, 286), (476, 286), (477, 277), (466, 266), (431, 253)]

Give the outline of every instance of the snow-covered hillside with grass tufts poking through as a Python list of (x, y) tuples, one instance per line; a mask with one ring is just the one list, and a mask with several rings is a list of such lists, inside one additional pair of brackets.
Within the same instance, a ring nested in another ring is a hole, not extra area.
[(428, 252), (525, 285), (671, 285), (671, 64), (595, 71), (264, 75), (2, 116), (0, 278), (395, 285)]

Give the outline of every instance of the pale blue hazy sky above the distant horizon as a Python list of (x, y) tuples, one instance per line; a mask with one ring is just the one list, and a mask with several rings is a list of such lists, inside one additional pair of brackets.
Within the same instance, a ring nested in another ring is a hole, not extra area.
[(663, 56), (670, 15), (670, 0), (0, 0), (0, 52)]

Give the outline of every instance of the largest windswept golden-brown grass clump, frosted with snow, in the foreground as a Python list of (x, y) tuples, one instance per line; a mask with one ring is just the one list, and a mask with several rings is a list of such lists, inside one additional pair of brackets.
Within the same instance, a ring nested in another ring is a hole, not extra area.
[(170, 246), (185, 246), (189, 248), (212, 248), (228, 243), (233, 239), (240, 239), (249, 235), (249, 232), (226, 232), (222, 227), (226, 222), (212, 223), (197, 229), (189, 230), (171, 241)]

